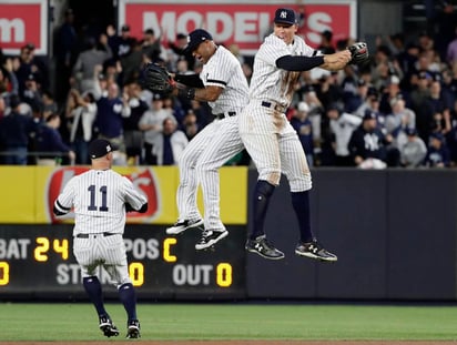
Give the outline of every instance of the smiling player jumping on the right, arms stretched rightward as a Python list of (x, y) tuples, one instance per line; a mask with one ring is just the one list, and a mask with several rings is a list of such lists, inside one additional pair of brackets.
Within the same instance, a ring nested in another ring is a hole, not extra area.
[(301, 37), (295, 35), (297, 28), (293, 10), (276, 10), (274, 31), (265, 38), (254, 58), (250, 102), (238, 116), (242, 141), (258, 171), (252, 200), (254, 222), (245, 248), (270, 260), (284, 257), (284, 253), (266, 240), (264, 232), (270, 199), (283, 172), (290, 183), (292, 204), (299, 225), (299, 242), (295, 254), (335, 262), (336, 255), (317, 242), (311, 229), (311, 172), (285, 111), (291, 104), (294, 84), (301, 71), (316, 67), (342, 69), (351, 61), (352, 53), (344, 50), (319, 55)]

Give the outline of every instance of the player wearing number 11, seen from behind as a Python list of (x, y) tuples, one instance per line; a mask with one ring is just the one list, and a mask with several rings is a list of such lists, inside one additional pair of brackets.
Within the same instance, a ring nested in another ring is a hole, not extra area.
[(98, 139), (90, 143), (91, 170), (72, 177), (54, 202), (55, 215), (74, 209), (73, 254), (81, 267), (84, 290), (99, 315), (99, 327), (108, 337), (119, 329), (103, 305), (98, 268), (102, 266), (118, 287), (128, 314), (128, 338), (140, 337), (136, 295), (129, 277), (123, 232), (125, 211), (148, 211), (148, 200), (132, 182), (111, 170), (113, 146)]

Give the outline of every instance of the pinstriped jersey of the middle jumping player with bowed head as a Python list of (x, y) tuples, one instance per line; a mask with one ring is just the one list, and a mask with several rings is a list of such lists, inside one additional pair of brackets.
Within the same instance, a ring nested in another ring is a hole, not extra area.
[(215, 102), (209, 102), (213, 114), (241, 111), (247, 103), (247, 81), (240, 68), (240, 61), (226, 48), (219, 45), (214, 55), (200, 73), (205, 87), (214, 85), (224, 91)]

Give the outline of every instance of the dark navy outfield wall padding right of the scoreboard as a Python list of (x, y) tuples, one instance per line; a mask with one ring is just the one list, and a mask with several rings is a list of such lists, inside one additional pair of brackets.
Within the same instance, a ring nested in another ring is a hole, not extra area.
[[(250, 194), (256, 176), (250, 175)], [(247, 255), (247, 295), (456, 300), (456, 181), (449, 170), (313, 171), (313, 229), (338, 255), (327, 264), (294, 255), (298, 230), (283, 179), (266, 233), (286, 257)]]

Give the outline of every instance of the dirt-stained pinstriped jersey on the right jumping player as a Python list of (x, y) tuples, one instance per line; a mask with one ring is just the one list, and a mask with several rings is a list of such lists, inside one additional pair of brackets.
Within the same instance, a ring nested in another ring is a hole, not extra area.
[(275, 34), (265, 38), (254, 60), (254, 73), (251, 80), (251, 100), (274, 101), (288, 106), (294, 93), (294, 82), (299, 72), (286, 71), (276, 67), (276, 60), (284, 55), (311, 57), (314, 49), (295, 35), (293, 44), (286, 43)]

